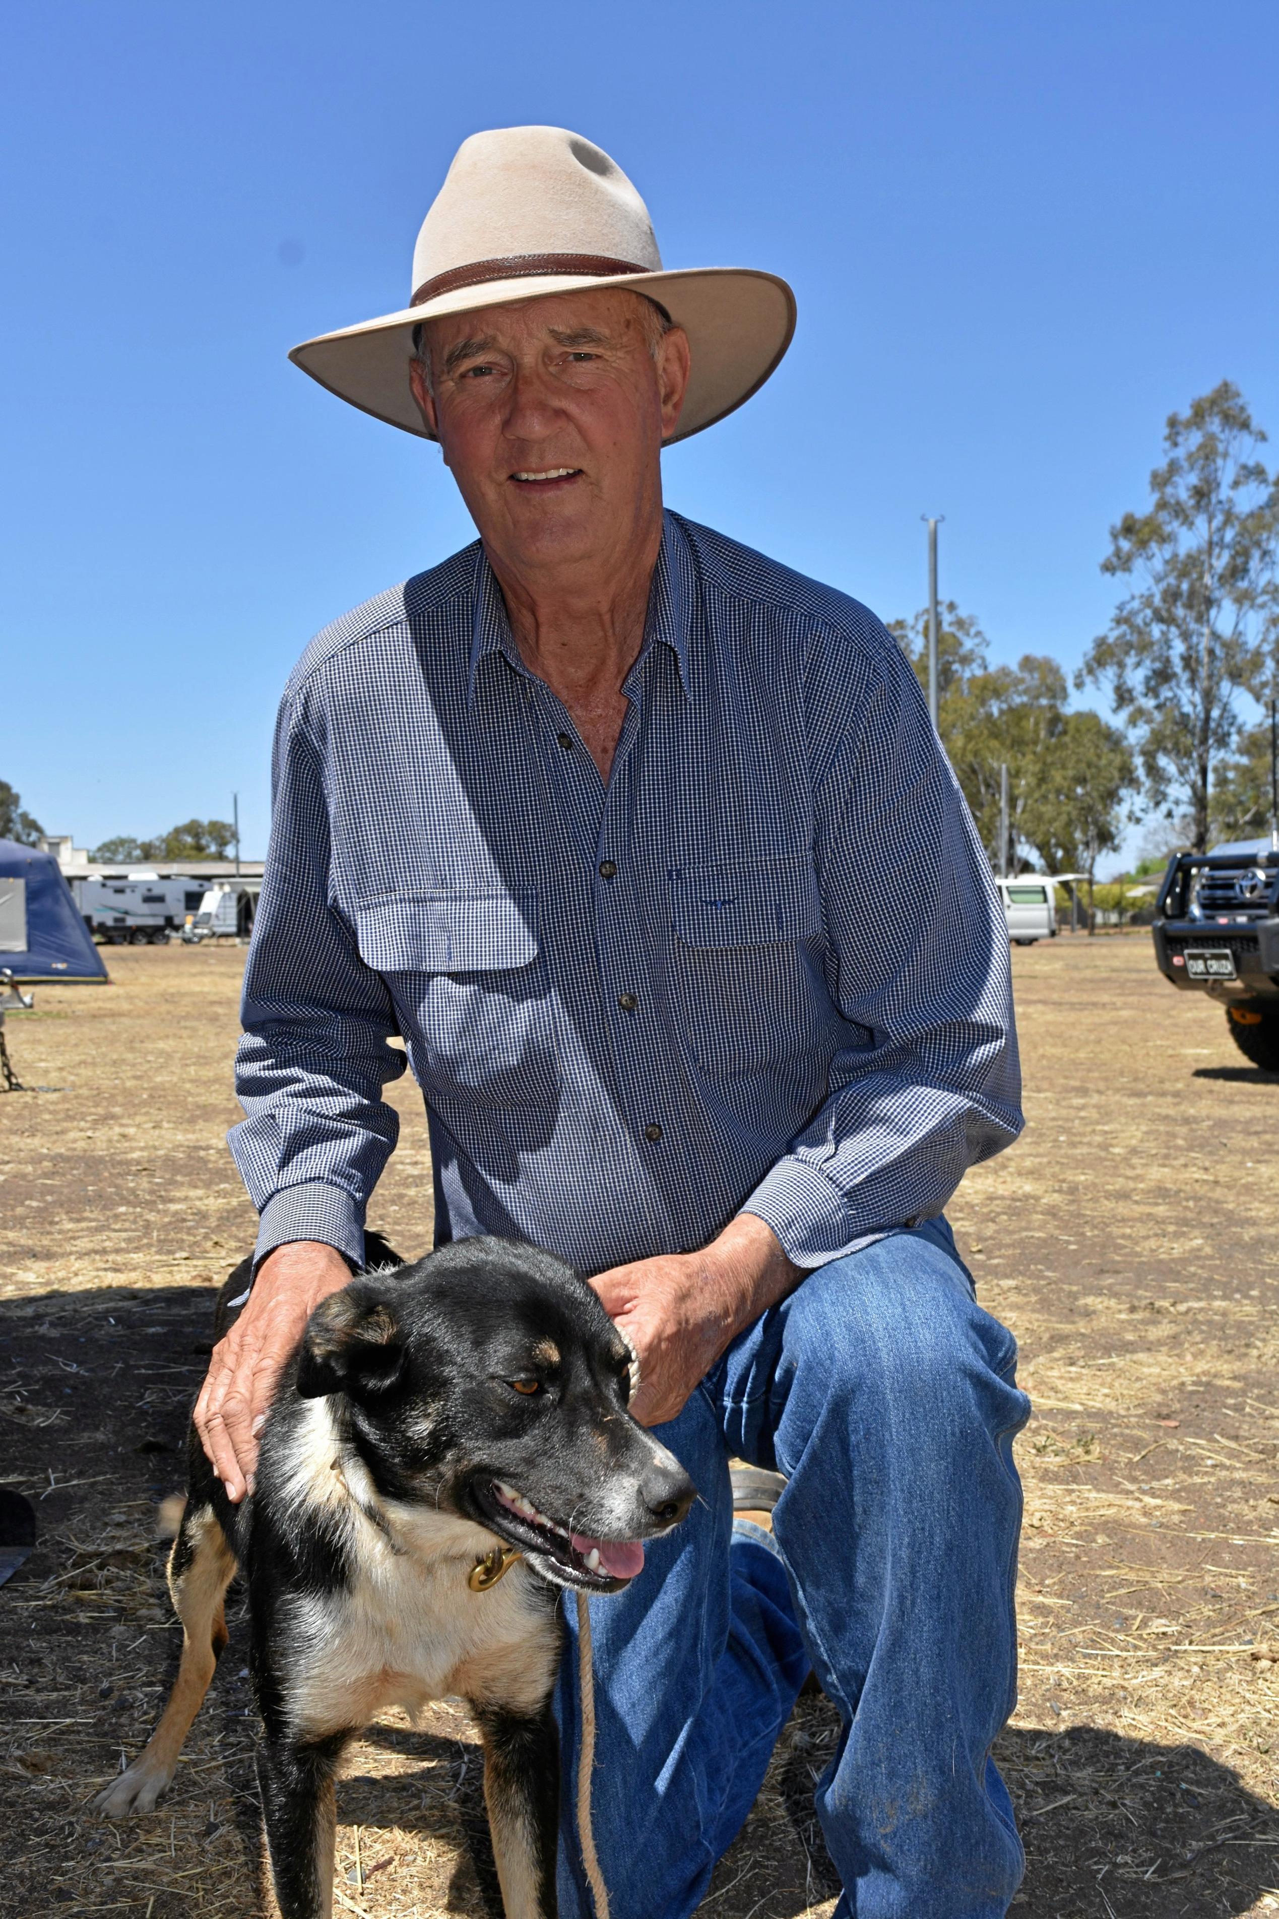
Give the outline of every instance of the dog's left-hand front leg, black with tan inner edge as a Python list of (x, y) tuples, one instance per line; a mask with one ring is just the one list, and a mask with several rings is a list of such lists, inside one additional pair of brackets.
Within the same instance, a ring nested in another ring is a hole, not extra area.
[(330, 1919), (334, 1771), (350, 1733), (271, 1737), (257, 1750), (257, 1785), (278, 1919)]

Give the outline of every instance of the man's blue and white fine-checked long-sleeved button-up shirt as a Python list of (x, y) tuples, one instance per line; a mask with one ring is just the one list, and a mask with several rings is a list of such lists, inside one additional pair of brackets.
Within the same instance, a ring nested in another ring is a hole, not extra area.
[(259, 1257), (361, 1259), (396, 1032), (436, 1240), (582, 1272), (743, 1209), (818, 1267), (1016, 1138), (1004, 917), (880, 622), (666, 514), (624, 693), (605, 787), (478, 543), (305, 652), (230, 1134)]

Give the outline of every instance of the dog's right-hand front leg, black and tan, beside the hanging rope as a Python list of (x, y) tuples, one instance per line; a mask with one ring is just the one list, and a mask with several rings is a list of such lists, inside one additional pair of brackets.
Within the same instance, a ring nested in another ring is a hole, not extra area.
[(476, 1706), (484, 1735), (484, 1802), (507, 1919), (555, 1919), (559, 1735), (540, 1714)]

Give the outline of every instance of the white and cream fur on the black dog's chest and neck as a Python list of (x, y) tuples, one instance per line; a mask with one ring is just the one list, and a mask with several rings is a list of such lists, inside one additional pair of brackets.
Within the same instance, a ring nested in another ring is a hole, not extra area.
[(449, 1694), (538, 1712), (559, 1654), (542, 1581), (517, 1562), (495, 1587), (472, 1593), (469, 1574), (494, 1533), (428, 1506), (378, 1501), (357, 1460), (334, 1468), (328, 1407), (311, 1407), (290, 1491), (340, 1528), (351, 1583), (284, 1600), (278, 1631), (288, 1639), (282, 1664), (298, 1733), (363, 1727), (386, 1706), (413, 1714)]

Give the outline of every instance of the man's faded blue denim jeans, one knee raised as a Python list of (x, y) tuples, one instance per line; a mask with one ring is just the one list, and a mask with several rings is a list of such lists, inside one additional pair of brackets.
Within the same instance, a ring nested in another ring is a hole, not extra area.
[[(1022, 1879), (991, 1742), (1016, 1702), (1029, 1401), (945, 1220), (810, 1272), (659, 1430), (701, 1499), (591, 1600), (595, 1848), (613, 1919), (686, 1919), (810, 1668), (843, 1733), (816, 1808), (839, 1919), (999, 1919)], [(728, 1460), (776, 1466), (774, 1539)], [(593, 1919), (574, 1823), (574, 1608), (557, 1689), (559, 1904)]]

